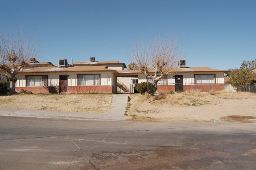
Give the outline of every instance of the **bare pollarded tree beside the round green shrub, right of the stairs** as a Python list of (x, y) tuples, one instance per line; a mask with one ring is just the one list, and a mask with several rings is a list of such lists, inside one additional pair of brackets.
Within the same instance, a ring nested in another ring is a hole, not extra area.
[(169, 38), (165, 34), (163, 38), (161, 35), (158, 38), (155, 36), (152, 45), (150, 39), (140, 44), (134, 41), (129, 58), (136, 63), (137, 69), (142, 74), (153, 80), (157, 88), (157, 83), (161, 78), (176, 72), (174, 67), (181, 58), (181, 50), (182, 45), (179, 45), (177, 36)]

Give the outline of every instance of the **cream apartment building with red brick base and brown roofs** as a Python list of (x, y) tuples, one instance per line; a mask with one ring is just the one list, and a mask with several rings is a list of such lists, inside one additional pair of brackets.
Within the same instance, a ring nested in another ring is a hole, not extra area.
[[(134, 92), (135, 83), (151, 82), (138, 70), (125, 70), (125, 63), (119, 61), (90, 62), (68, 64), (59, 59), (59, 65), (50, 62), (37, 63), (24, 68), (17, 74), (16, 91), (21, 89), (33, 93), (117, 93)], [(169, 91), (220, 91), (224, 89), (224, 72), (209, 67), (174, 68), (175, 73), (158, 82), (159, 92)], [(150, 69), (152, 74), (153, 69)]]

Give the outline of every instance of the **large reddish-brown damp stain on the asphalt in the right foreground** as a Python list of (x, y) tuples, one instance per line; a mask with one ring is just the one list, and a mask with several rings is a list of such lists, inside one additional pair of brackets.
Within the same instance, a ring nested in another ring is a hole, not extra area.
[(255, 152), (253, 146), (240, 146), (236, 143), (223, 143), (219, 146), (194, 145), (194, 148), (156, 146), (148, 150), (101, 152), (91, 155), (91, 161), (98, 170), (199, 170), (225, 166), (244, 169), (239, 160), (255, 156)]

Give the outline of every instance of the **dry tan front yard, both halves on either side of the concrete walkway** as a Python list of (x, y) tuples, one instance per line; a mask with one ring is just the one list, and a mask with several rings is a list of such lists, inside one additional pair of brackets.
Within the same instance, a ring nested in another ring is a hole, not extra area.
[[(106, 114), (116, 94), (18, 94), (0, 96), (0, 107)], [(130, 94), (126, 114), (137, 122), (256, 122), (256, 94), (175, 92)]]

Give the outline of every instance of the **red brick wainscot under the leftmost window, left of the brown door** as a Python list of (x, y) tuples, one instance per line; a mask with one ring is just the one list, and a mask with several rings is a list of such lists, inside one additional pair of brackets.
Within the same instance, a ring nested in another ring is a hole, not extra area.
[(50, 92), (52, 93), (59, 93), (59, 87), (16, 87), (15, 90), (16, 92), (20, 92), (21, 89), (31, 91), (32, 93), (38, 94), (38, 93), (44, 93), (48, 94)]

